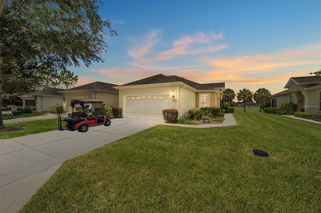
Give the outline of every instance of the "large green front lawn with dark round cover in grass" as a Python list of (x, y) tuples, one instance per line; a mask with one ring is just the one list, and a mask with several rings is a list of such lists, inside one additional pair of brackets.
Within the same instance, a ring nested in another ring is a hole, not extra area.
[(237, 126), (158, 125), (68, 160), (21, 212), (321, 212), (321, 125), (254, 109), (236, 109)]

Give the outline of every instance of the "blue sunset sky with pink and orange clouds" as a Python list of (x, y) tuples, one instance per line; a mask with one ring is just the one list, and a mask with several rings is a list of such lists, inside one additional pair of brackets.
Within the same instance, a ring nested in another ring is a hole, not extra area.
[(99, 14), (119, 36), (105, 36), (104, 62), (70, 67), (75, 86), (162, 73), (273, 94), (290, 77), (321, 68), (319, 0), (103, 2)]

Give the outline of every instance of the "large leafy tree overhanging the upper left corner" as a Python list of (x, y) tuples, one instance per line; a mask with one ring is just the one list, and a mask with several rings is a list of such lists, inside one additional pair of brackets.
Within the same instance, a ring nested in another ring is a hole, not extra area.
[(28, 79), (44, 67), (62, 71), (81, 61), (86, 66), (103, 61), (104, 29), (110, 36), (117, 32), (98, 14), (101, 4), (100, 0), (0, 0), (0, 94), (4, 76)]

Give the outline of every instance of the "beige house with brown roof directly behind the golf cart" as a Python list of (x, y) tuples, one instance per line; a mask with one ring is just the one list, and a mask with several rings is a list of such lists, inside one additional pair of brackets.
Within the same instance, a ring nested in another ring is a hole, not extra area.
[(106, 106), (118, 107), (118, 89), (113, 88), (113, 86), (118, 85), (96, 81), (62, 90), (60, 92), (63, 95), (64, 108), (69, 108), (73, 99), (98, 99), (104, 101)]

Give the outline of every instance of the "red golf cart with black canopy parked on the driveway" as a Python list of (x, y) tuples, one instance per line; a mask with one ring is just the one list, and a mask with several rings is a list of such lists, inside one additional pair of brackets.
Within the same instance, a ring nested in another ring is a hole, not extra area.
[[(103, 105), (102, 100), (81, 99), (72, 100), (72, 113), (68, 117), (62, 117), (66, 114), (58, 114), (58, 129), (60, 130), (76, 130), (85, 132), (89, 126), (110, 125), (110, 117)], [(61, 121), (66, 121), (66, 126), (62, 126)]]

